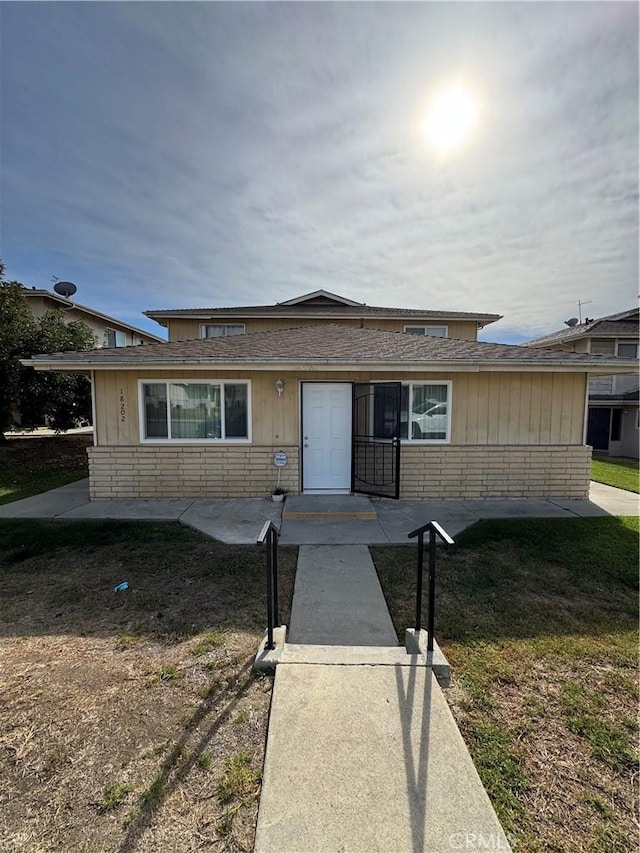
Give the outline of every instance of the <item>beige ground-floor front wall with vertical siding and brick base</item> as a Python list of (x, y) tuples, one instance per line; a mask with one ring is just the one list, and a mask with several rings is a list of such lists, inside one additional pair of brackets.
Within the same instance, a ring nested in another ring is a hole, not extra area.
[[(300, 488), (300, 382), (396, 379), (402, 374), (198, 372), (198, 379), (251, 381), (251, 444), (141, 444), (140, 379), (193, 378), (191, 371), (97, 372), (98, 446), (89, 449), (93, 499), (267, 495), (273, 454), (285, 450), (282, 485)], [(278, 397), (277, 379), (285, 383)], [(449, 445), (405, 443), (401, 497), (586, 497), (590, 448), (582, 445), (585, 376), (424, 373), (452, 382)]]

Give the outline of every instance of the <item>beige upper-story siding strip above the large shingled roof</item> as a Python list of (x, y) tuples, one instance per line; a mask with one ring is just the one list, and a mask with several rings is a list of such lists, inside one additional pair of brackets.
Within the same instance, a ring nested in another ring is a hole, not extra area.
[[(167, 320), (167, 327), (169, 330), (169, 340), (170, 341), (192, 341), (196, 340), (200, 337), (200, 326), (202, 325), (201, 320)], [(319, 323), (340, 323), (345, 326), (355, 326), (356, 328), (364, 328), (364, 329), (380, 329), (382, 331), (388, 332), (403, 332), (404, 327), (407, 324), (422, 326), (422, 325), (446, 325), (447, 330), (449, 332), (450, 338), (457, 338), (463, 341), (475, 341), (477, 340), (477, 325), (475, 322), (471, 321), (436, 321), (436, 320), (389, 320), (384, 317), (375, 318), (375, 317), (366, 317), (363, 320), (359, 318), (339, 318), (336, 317), (335, 320), (322, 320), (319, 318), (305, 318), (305, 317), (288, 317), (288, 318), (255, 318), (255, 319), (246, 319), (242, 318), (231, 319), (228, 320), (210, 320), (210, 323), (244, 323), (246, 327), (246, 333), (251, 334), (252, 332), (264, 332), (270, 331), (274, 329), (292, 329), (299, 328), (301, 326), (317, 326)]]

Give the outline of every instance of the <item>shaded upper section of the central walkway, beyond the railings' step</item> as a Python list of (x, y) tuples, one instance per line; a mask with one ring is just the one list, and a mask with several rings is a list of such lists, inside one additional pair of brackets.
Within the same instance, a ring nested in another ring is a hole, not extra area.
[(366, 546), (300, 546), (288, 639), (321, 646), (398, 645)]

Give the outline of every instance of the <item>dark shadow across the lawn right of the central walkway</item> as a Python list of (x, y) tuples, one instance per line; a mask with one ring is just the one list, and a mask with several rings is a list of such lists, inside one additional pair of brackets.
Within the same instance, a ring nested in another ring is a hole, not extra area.
[[(414, 619), (415, 550), (371, 552), (402, 638)], [(637, 567), (635, 518), (481, 521), (439, 552), (436, 636), (471, 643), (633, 631)]]

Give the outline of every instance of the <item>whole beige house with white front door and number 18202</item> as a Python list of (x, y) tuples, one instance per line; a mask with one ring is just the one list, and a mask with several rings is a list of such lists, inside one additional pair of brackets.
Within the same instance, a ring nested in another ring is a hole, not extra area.
[[(478, 343), (497, 315), (367, 308), (324, 292), (185, 313), (198, 314), (184, 329), (195, 340), (26, 362), (93, 378), (93, 499), (265, 495), (280, 452), (291, 492), (585, 498), (589, 376), (633, 369)], [(254, 320), (274, 328), (251, 331)], [(227, 322), (244, 333), (200, 337)], [(438, 334), (411, 333), (427, 326)]]

